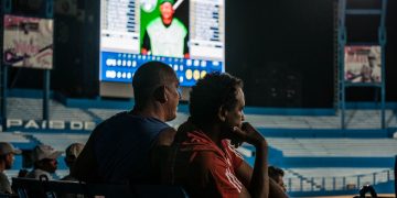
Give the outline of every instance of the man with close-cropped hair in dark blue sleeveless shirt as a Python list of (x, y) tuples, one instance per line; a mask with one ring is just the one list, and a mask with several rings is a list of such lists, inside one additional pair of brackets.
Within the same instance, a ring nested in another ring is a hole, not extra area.
[(180, 99), (174, 70), (160, 62), (143, 64), (135, 73), (135, 107), (100, 123), (77, 157), (72, 176), (84, 182), (152, 184), (158, 182), (152, 151), (171, 145)]

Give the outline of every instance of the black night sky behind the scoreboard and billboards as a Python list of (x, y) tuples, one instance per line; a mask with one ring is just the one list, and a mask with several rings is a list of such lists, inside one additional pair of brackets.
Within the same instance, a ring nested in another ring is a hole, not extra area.
[[(43, 7), (14, 0), (14, 12)], [(44, 1), (35, 0), (43, 3)], [(55, 0), (54, 3), (61, 1)], [(379, 0), (353, 0), (373, 7)], [(40, 4), (39, 3), (39, 4)], [(226, 1), (226, 72), (245, 81), (248, 106), (333, 108), (336, 101), (335, 0)], [(32, 3), (31, 3), (32, 4)], [(68, 97), (98, 96), (99, 1), (78, 0), (81, 14), (55, 13), (51, 86)], [(386, 98), (397, 100), (397, 2), (388, 1)], [(377, 42), (377, 16), (347, 18), (347, 42)], [(42, 74), (10, 69), (11, 88), (41, 88)], [(374, 88), (348, 88), (348, 101), (374, 101)]]

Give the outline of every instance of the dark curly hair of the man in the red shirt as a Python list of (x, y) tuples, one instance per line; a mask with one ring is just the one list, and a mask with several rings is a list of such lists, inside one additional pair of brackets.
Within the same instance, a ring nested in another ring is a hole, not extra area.
[(227, 73), (211, 73), (192, 87), (189, 110), (197, 127), (210, 125), (216, 121), (221, 107), (230, 110), (237, 103), (237, 88), (243, 80)]

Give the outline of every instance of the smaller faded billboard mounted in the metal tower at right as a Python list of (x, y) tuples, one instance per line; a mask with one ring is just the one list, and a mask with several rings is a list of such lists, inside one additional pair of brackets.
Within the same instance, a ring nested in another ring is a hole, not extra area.
[(382, 57), (378, 45), (345, 46), (344, 76), (348, 82), (382, 82)]

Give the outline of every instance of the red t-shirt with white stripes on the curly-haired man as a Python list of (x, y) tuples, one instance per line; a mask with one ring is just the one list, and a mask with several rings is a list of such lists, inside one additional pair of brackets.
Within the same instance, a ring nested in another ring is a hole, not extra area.
[(191, 197), (238, 197), (243, 184), (235, 173), (243, 157), (228, 140), (222, 147), (201, 131), (187, 132), (175, 155), (174, 184)]

